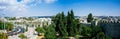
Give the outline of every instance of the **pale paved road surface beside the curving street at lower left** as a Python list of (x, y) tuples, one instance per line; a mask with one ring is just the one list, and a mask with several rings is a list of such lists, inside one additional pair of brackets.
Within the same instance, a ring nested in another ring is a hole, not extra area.
[[(23, 28), (20, 28), (21, 32), (23, 32)], [(24, 35), (28, 37), (28, 39), (36, 39), (38, 36), (34, 34), (35, 32), (35, 28), (33, 27), (28, 27), (28, 31), (24, 32)], [(8, 36), (8, 39), (20, 39), (18, 36), (20, 35), (20, 33), (16, 34), (16, 35), (12, 35), (12, 36)]]

